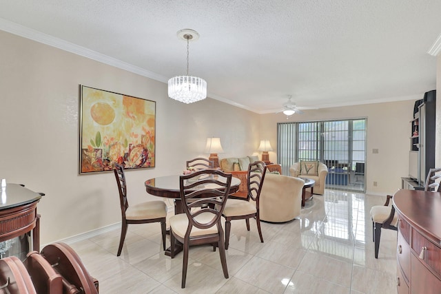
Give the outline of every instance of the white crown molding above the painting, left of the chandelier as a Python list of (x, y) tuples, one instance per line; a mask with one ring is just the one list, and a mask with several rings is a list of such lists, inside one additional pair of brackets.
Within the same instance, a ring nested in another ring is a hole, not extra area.
[(94, 61), (99, 61), (107, 65), (112, 65), (114, 67), (121, 68), (122, 70), (127, 70), (127, 72), (133, 72), (134, 74), (139, 74), (140, 76), (152, 78), (156, 81), (160, 81), (163, 83), (167, 83), (168, 81), (168, 78), (165, 76), (155, 74), (154, 72), (150, 72), (149, 70), (145, 70), (141, 67), (137, 67), (130, 63), (120, 61), (119, 59), (114, 59), (99, 52), (89, 50), (79, 45), (75, 45), (74, 43), (55, 38), (54, 36), (43, 34), (42, 32), (32, 30), (12, 21), (7, 21), (6, 19), (0, 18), (0, 30), (10, 32), (11, 34), (16, 34), (17, 36), (22, 36), (23, 38), (37, 41), (45, 45), (50, 45), (52, 47), (59, 48), (61, 50), (65, 50), (80, 56), (84, 56), (88, 59), (93, 59)]

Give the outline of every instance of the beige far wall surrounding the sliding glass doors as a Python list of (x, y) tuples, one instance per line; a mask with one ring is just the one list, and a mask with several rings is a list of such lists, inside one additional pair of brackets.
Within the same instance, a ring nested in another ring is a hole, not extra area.
[[(415, 100), (418, 100), (418, 97)], [(413, 117), (414, 102), (411, 100), (305, 110), (304, 114), (294, 114), (289, 120), (283, 114), (266, 114), (260, 117), (263, 126), (260, 136), (271, 140), (274, 152), (269, 152), (269, 157), (275, 162), (276, 123), (367, 118), (366, 190), (371, 194), (392, 195), (401, 188), (400, 178), (408, 174), (410, 121)], [(378, 149), (378, 154), (372, 154), (372, 149)], [(377, 187), (373, 187), (373, 182), (377, 182)]]

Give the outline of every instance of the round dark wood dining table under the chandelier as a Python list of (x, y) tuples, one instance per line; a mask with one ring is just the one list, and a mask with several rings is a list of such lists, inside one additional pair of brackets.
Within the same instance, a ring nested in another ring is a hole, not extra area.
[[(145, 191), (153, 196), (171, 198), (174, 200), (174, 214), (184, 213), (181, 201), (181, 190), (179, 189), (179, 177), (181, 175), (159, 176), (145, 181)], [(230, 195), (236, 193), (240, 186), (240, 180), (232, 177), (232, 183), (229, 188)], [(177, 242), (177, 241), (176, 241)], [(182, 244), (176, 243), (175, 251), (182, 250)], [(165, 249), (165, 255), (170, 256), (170, 247)]]

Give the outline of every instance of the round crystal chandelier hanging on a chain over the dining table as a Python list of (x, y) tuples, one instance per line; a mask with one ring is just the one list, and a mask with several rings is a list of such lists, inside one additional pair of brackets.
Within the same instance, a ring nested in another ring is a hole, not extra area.
[(207, 82), (203, 78), (189, 76), (189, 41), (199, 39), (195, 30), (179, 30), (178, 38), (187, 41), (187, 76), (174, 76), (168, 80), (168, 96), (183, 103), (194, 103), (207, 98)]

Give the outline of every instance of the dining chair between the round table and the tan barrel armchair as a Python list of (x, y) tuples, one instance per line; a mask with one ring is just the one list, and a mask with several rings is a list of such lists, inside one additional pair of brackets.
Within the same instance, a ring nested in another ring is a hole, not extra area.
[(229, 246), (229, 233), (232, 227), (232, 220), (245, 220), (247, 230), (249, 231), (249, 219), (256, 218), (260, 242), (263, 243), (262, 230), (260, 229), (259, 198), (266, 171), (267, 166), (263, 161), (250, 163), (248, 165), (247, 176), (247, 198), (244, 200), (229, 199), (225, 205), (222, 214), (225, 218), (225, 249), (228, 249)]

